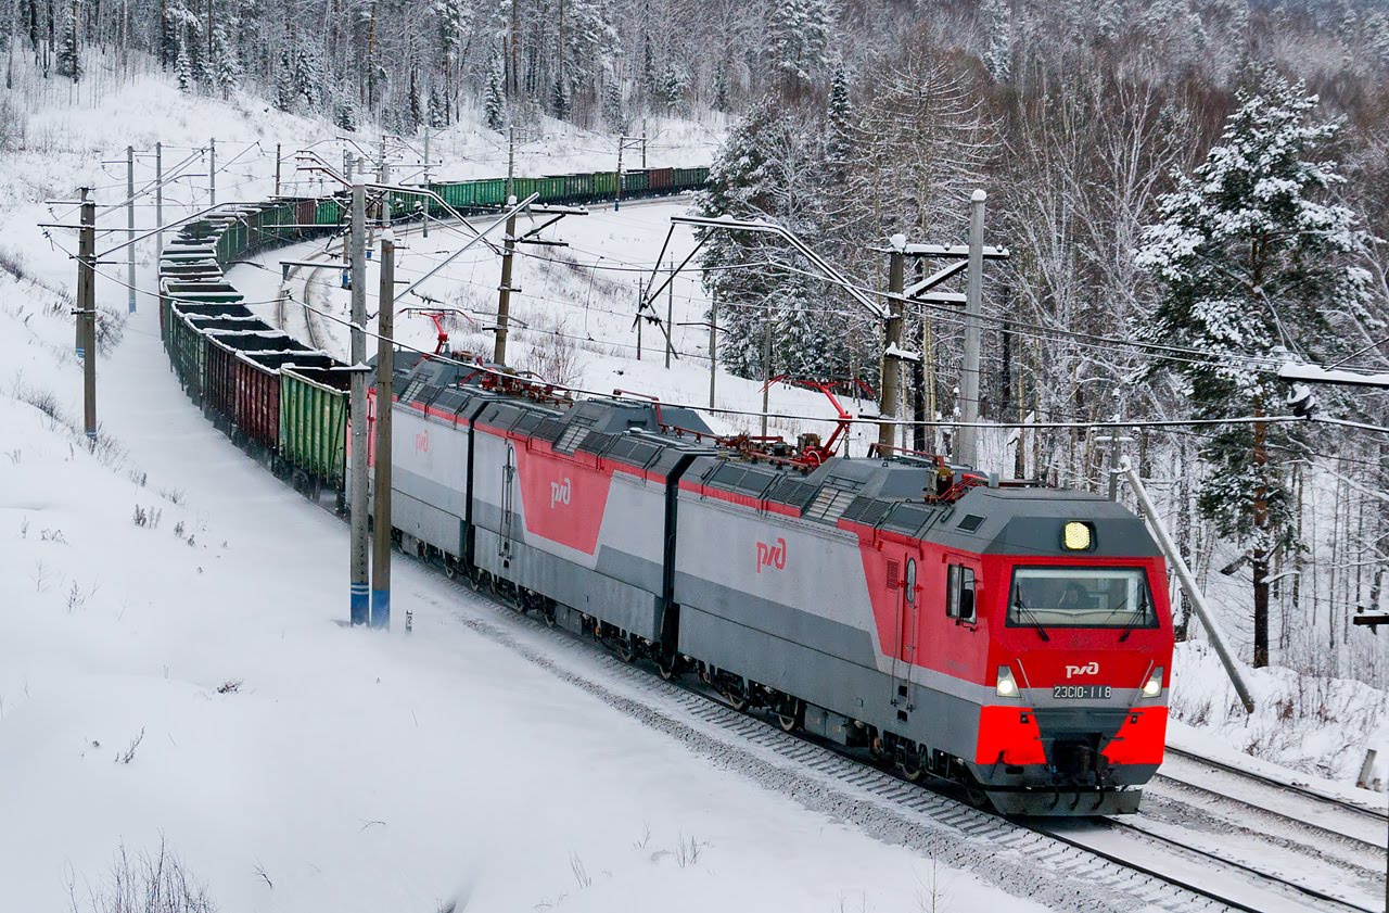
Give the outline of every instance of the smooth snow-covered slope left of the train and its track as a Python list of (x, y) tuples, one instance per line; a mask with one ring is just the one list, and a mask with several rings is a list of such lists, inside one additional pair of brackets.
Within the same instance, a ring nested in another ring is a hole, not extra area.
[(146, 82), (4, 165), (39, 175), (0, 214), (4, 906), (85, 909), (118, 846), (161, 839), (222, 910), (1029, 906), (711, 767), (460, 625), (458, 591), (411, 563), (411, 635), (344, 628), (346, 528), (203, 421), (153, 299), (122, 327), (106, 265), (124, 332), (89, 452), (74, 270), (32, 201), (107, 182), (93, 163), (126, 142), (288, 126), (247, 110)]

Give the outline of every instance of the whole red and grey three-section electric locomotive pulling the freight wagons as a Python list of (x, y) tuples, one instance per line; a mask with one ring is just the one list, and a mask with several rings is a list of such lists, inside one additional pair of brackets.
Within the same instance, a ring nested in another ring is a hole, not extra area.
[(396, 389), (390, 523), (450, 574), (999, 812), (1138, 809), (1172, 625), (1122, 506), (435, 360)]

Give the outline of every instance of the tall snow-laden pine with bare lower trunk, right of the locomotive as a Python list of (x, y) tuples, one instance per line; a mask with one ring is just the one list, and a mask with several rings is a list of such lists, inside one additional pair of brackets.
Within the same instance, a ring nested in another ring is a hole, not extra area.
[[(1161, 286), (1146, 338), (1203, 354), (1168, 368), (1201, 418), (1270, 416), (1283, 390), (1270, 367), (1292, 347), (1314, 359), (1345, 349), (1364, 320), (1367, 277), (1351, 265), (1363, 240), (1346, 207), (1318, 197), (1342, 178), (1325, 158), (1339, 125), (1314, 122), (1315, 96), (1274, 72), (1240, 92), (1220, 145), (1158, 200), (1138, 261)], [(1349, 317), (1335, 317), (1336, 314)], [(1221, 535), (1250, 549), (1254, 666), (1268, 664), (1268, 568), (1292, 545), (1292, 503), (1271, 450), (1295, 446), (1286, 424), (1217, 425), (1201, 456), (1197, 504)]]

